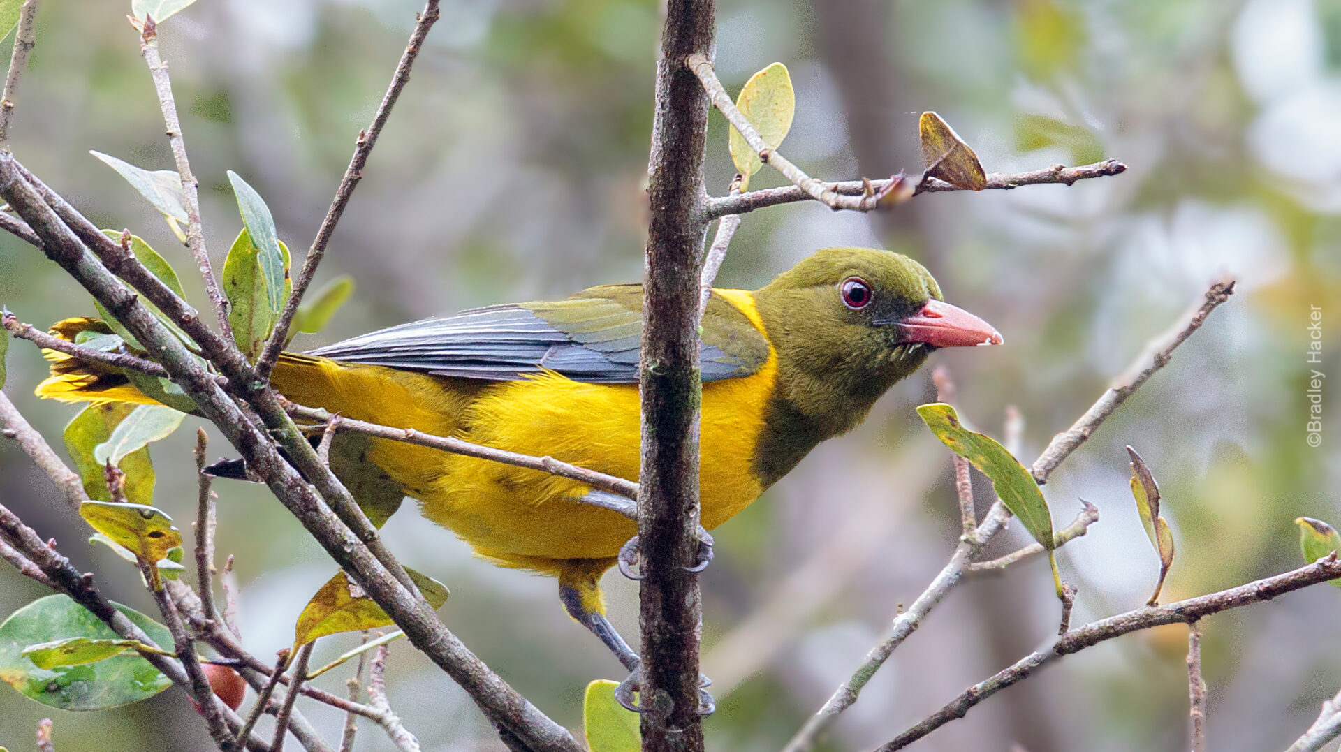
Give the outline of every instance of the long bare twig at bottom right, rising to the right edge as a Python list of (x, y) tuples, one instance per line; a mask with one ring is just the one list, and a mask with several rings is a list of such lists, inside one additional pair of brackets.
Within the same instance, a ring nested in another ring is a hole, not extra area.
[(1143, 606), (1140, 609), (1126, 611), (1125, 614), (1109, 617), (1106, 619), (1088, 623), (1080, 629), (1070, 630), (1065, 635), (1054, 639), (1050, 645), (1030, 653), (991, 678), (968, 688), (963, 694), (952, 700), (931, 717), (898, 735), (898, 737), (889, 744), (881, 747), (878, 752), (902, 749), (947, 723), (964, 717), (964, 714), (974, 705), (978, 705), (1002, 689), (1027, 678), (1041, 666), (1050, 664), (1062, 655), (1078, 653), (1106, 639), (1113, 639), (1114, 637), (1121, 637), (1143, 629), (1179, 622), (1195, 623), (1202, 617), (1210, 614), (1218, 614), (1220, 611), (1239, 609), (1250, 603), (1270, 601), (1278, 595), (1326, 582), (1328, 579), (1332, 579), (1333, 572), (1341, 572), (1341, 562), (1337, 562), (1336, 554), (1318, 559), (1317, 562), (1297, 570), (1259, 579), (1257, 582), (1250, 582), (1247, 584), (1240, 584), (1238, 587), (1231, 587), (1230, 590), (1222, 590), (1219, 592), (1211, 592), (1208, 595), (1189, 598), (1187, 601), (1179, 601), (1177, 603), (1169, 603), (1167, 606)]

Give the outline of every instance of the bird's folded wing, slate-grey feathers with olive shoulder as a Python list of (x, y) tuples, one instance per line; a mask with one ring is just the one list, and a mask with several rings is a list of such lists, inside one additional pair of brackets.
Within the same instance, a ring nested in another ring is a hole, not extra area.
[[(703, 331), (703, 381), (750, 375), (768, 358), (763, 334), (721, 296), (709, 300)], [(557, 371), (590, 383), (637, 383), (641, 338), (642, 287), (621, 284), (412, 322), (311, 354), (483, 381)]]

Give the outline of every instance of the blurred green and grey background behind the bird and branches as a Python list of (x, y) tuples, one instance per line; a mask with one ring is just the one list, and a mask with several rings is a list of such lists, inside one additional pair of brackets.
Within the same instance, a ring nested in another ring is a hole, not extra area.
[[(186, 251), (87, 153), (172, 168), (126, 5), (42, 7), (12, 145), (95, 221), (129, 227), (164, 252), (198, 304)], [(240, 228), (228, 169), (260, 190), (295, 252), (310, 244), (418, 8), (201, 0), (164, 25), (216, 268)], [(350, 273), (355, 299), (298, 344), (640, 279), (658, 23), (650, 0), (444, 0), (318, 280)], [(1297, 566), (1298, 515), (1341, 523), (1341, 386), (1332, 383), (1341, 379), (1341, 3), (721, 0), (727, 86), (774, 60), (797, 87), (783, 150), (819, 177), (916, 173), (923, 110), (951, 122), (990, 172), (1109, 157), (1129, 165), (1071, 188), (921, 196), (876, 217), (814, 204), (760, 210), (744, 218), (719, 277), (755, 288), (825, 245), (912, 253), (947, 299), (1003, 332), (1003, 347), (932, 361), (952, 369), (960, 414), (982, 430), (1000, 436), (1006, 406), (1022, 410), (1026, 460), (1210, 281), (1239, 280), (1239, 294), (1045, 487), (1059, 524), (1080, 497), (1102, 513), (1059, 556), (1080, 586), (1077, 622), (1144, 603), (1157, 572), (1126, 487), (1126, 444), (1160, 480), (1177, 542), (1165, 601)], [(717, 114), (709, 138), (708, 181), (721, 193), (732, 168)], [(766, 169), (752, 186), (778, 182)], [(0, 237), (0, 303), (39, 326), (93, 312), (54, 264), (9, 237)], [(1305, 442), (1310, 306), (1322, 307), (1320, 370), (1329, 374), (1320, 448)], [(9, 350), (7, 393), (59, 445), (75, 409), (35, 401), (43, 362), (27, 343)], [(933, 398), (928, 374), (898, 385), (862, 428), (716, 531), (703, 578), (704, 672), (719, 701), (711, 749), (779, 748), (945, 562), (957, 535), (948, 456), (913, 413)], [(193, 433), (153, 448), (157, 504), (184, 528)], [(228, 454), (217, 436), (211, 453)], [(237, 558), (245, 643), (268, 657), (333, 566), (257, 488), (217, 489), (219, 551)], [(114, 598), (152, 610), (137, 575), (84, 546), (89, 529), (7, 441), (0, 499), (78, 566), (97, 567)], [(451, 586), (447, 623), (559, 721), (579, 725), (587, 681), (622, 678), (558, 609), (552, 580), (475, 560), (410, 505), (386, 536), (404, 562)], [(1004, 538), (1025, 543), (1014, 528)], [(636, 634), (634, 583), (614, 574), (606, 587), (616, 625)], [(43, 594), (0, 568), (0, 615)], [(1212, 748), (1283, 748), (1311, 723), (1341, 686), (1338, 619), (1341, 594), (1316, 587), (1206, 622)], [(877, 674), (827, 748), (886, 741), (1055, 626), (1043, 562), (966, 582)], [(314, 661), (353, 639), (323, 641)], [(1185, 748), (1184, 650), (1180, 626), (1086, 650), (915, 749)], [(342, 690), (342, 673), (319, 684)], [(408, 646), (396, 646), (390, 673), (392, 704), (425, 749), (502, 749), (468, 698)], [(338, 739), (339, 714), (307, 712)], [(209, 748), (176, 690), (75, 714), (0, 686), (0, 744), (31, 748), (44, 716), (63, 751)], [(358, 749), (390, 748), (375, 728), (359, 733)]]

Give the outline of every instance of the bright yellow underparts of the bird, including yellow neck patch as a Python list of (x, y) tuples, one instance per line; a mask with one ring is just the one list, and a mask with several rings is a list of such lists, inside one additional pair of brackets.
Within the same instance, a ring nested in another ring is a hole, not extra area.
[[(763, 330), (748, 292), (719, 294)], [(303, 370), (304, 378), (275, 373), (276, 386), (303, 403), (638, 477), (637, 385), (575, 382), (554, 373), (485, 383), (329, 361), (319, 371)], [(700, 500), (707, 528), (763, 492), (755, 448), (776, 373), (770, 350), (754, 374), (703, 385)], [(373, 381), (381, 386), (370, 389)], [(503, 564), (552, 572), (561, 560), (611, 558), (637, 532), (626, 517), (575, 501), (590, 491), (586, 485), (539, 471), (390, 441), (375, 441), (367, 458), (418, 499), (426, 517)]]

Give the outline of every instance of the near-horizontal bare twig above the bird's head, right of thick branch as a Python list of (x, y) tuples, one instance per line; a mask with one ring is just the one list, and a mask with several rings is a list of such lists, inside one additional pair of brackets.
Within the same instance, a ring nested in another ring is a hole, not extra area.
[[(987, 174), (987, 188), (995, 189), (1011, 189), (1019, 188), (1022, 185), (1045, 185), (1045, 184), (1062, 184), (1071, 185), (1078, 180), (1088, 180), (1094, 177), (1109, 177), (1126, 172), (1126, 165), (1118, 162), (1117, 160), (1108, 160), (1105, 162), (1094, 162), (1093, 165), (1082, 165), (1078, 168), (1063, 168), (1061, 165), (1054, 165), (1051, 168), (1045, 168), (1042, 170), (1033, 170), (1027, 173), (988, 173)], [(868, 196), (872, 192), (880, 194), (880, 192), (889, 185), (889, 180), (848, 180), (842, 182), (829, 182), (821, 184), (825, 189), (834, 194), (849, 197), (849, 196)], [(929, 177), (924, 180), (916, 189), (916, 193), (939, 193), (944, 190), (961, 190), (945, 181)], [(724, 216), (724, 214), (743, 214), (746, 212), (754, 212), (755, 209), (763, 209), (766, 206), (776, 206), (779, 204), (793, 204), (795, 201), (809, 201), (815, 198), (807, 190), (802, 190), (795, 185), (786, 185), (782, 188), (766, 188), (762, 190), (751, 190), (748, 193), (742, 193), (740, 196), (723, 196), (708, 198), (708, 206), (705, 209), (707, 217), (709, 220)], [(846, 206), (845, 206), (846, 208)], [(866, 210), (866, 209), (862, 209)]]

